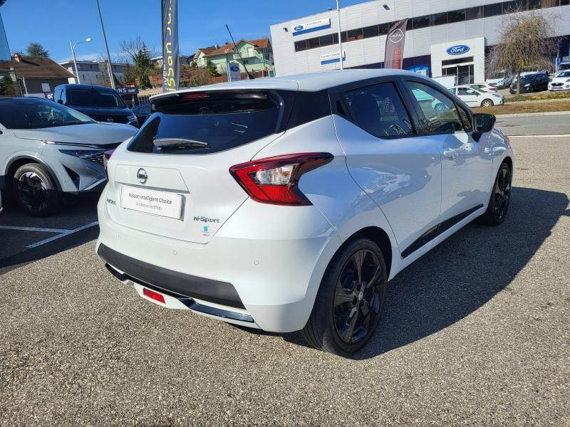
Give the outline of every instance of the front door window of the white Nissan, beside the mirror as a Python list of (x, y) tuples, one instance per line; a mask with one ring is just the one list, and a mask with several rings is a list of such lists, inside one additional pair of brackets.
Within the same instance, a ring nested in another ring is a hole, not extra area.
[[(425, 116), (425, 130), (428, 133), (453, 133), (463, 130), (455, 102), (439, 90), (417, 82), (408, 82)], [(467, 89), (472, 90), (472, 89)]]

